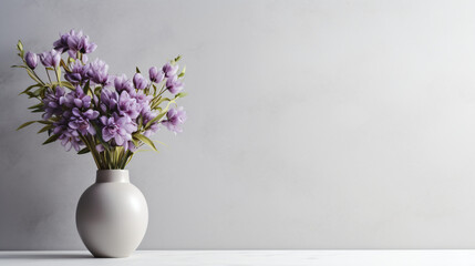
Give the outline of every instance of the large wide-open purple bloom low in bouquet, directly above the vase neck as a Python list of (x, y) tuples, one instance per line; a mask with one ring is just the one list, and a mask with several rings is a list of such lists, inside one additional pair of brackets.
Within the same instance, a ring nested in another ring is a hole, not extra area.
[(101, 116), (101, 122), (104, 125), (102, 129), (102, 137), (109, 142), (114, 140), (116, 145), (128, 145), (132, 140), (132, 133), (137, 130), (137, 125), (128, 116), (118, 116), (116, 113), (111, 117)]

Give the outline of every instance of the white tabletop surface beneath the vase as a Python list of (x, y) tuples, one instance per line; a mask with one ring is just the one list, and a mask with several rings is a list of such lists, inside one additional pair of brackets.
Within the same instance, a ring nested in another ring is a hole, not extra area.
[(128, 258), (93, 258), (87, 252), (0, 252), (0, 265), (473, 266), (475, 250), (140, 250)]

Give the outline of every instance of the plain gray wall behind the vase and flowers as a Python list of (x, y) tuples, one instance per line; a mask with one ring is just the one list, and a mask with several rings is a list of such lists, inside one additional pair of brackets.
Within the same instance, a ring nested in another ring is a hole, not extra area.
[(130, 164), (152, 248), (474, 248), (475, 3), (2, 1), (0, 249), (84, 248), (90, 155), (41, 146), (18, 62), (83, 29), (132, 75), (184, 54), (189, 120)]

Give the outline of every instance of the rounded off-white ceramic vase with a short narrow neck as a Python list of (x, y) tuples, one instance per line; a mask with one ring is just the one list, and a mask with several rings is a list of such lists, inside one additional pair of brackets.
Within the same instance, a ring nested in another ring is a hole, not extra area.
[(127, 170), (97, 170), (96, 181), (81, 196), (78, 232), (95, 257), (128, 257), (141, 244), (148, 224), (142, 192)]

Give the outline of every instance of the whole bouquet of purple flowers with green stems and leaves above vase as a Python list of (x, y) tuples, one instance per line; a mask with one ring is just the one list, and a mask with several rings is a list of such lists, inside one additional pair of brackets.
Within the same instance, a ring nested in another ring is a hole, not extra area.
[[(86, 54), (96, 48), (87, 35), (74, 30), (60, 34), (53, 49), (41, 54), (24, 53), (18, 42), (23, 63), (12, 68), (24, 69), (35, 82), (20, 94), (39, 100), (29, 110), (42, 113), (42, 120), (18, 130), (43, 124), (38, 132), (49, 135), (43, 144), (61, 141), (68, 151), (91, 153), (100, 170), (124, 168), (144, 144), (156, 151), (149, 136), (161, 126), (182, 132), (186, 112), (176, 101), (186, 95), (182, 92), (185, 68), (179, 71), (177, 57), (161, 69), (152, 66), (148, 79), (136, 68), (130, 80), (125, 74), (109, 74), (109, 65), (100, 59), (90, 61)], [(44, 66), (43, 79), (37, 72), (39, 61)]]

